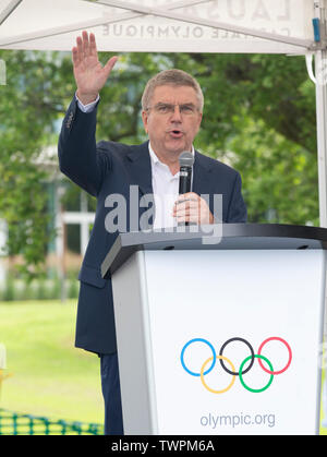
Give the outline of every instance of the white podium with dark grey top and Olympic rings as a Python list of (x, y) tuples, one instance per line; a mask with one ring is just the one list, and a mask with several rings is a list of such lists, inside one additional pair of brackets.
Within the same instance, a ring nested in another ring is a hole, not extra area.
[(102, 263), (124, 433), (318, 433), (327, 230), (186, 230), (122, 233)]

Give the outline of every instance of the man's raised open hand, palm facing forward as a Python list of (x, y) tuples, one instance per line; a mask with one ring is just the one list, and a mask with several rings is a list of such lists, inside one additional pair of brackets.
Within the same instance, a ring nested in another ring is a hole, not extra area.
[(76, 38), (76, 46), (72, 49), (74, 76), (77, 85), (77, 97), (87, 105), (94, 101), (106, 84), (108, 76), (118, 60), (111, 57), (102, 65), (98, 60), (97, 46), (94, 34), (82, 33), (82, 37)]

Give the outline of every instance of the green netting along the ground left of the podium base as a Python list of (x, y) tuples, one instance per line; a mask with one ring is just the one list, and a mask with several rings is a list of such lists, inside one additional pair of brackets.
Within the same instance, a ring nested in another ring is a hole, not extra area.
[(52, 420), (0, 408), (0, 435), (102, 435), (98, 423)]

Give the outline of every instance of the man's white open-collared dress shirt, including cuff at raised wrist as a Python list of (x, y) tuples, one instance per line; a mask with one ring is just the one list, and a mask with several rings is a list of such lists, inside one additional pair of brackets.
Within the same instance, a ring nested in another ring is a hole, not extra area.
[[(88, 105), (83, 105), (76, 95), (78, 108), (83, 112), (90, 112), (99, 100), (99, 96)], [(162, 164), (154, 152), (150, 143), (148, 143), (150, 163), (152, 163), (152, 177), (153, 177), (153, 191), (155, 200), (155, 220), (154, 229), (164, 227), (175, 227), (177, 220), (172, 217), (173, 204), (179, 196), (179, 181), (180, 172), (172, 175), (168, 165)], [(194, 155), (194, 147), (192, 146), (192, 154)]]

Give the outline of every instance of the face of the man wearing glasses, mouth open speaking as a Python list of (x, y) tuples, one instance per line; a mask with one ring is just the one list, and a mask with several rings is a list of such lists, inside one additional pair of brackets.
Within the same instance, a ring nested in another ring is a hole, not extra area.
[(170, 157), (191, 151), (202, 120), (194, 88), (158, 86), (148, 108), (142, 119), (155, 153)]

